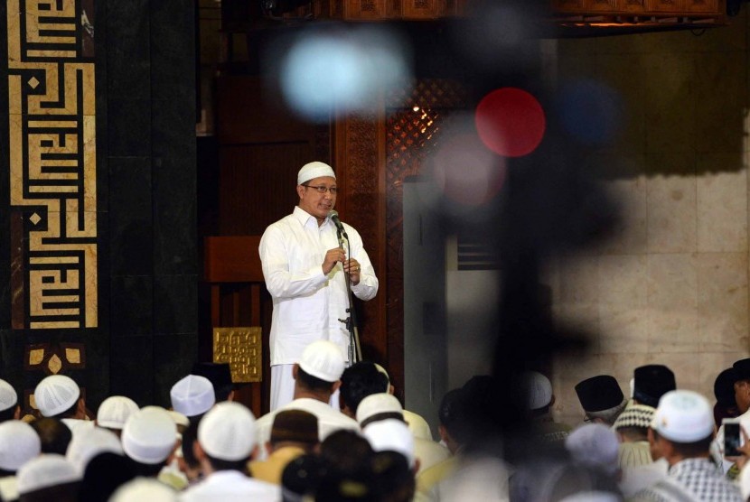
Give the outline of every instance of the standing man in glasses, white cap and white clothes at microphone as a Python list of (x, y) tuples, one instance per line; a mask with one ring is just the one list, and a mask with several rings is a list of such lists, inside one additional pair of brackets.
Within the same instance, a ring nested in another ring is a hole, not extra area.
[(378, 293), (360, 234), (346, 223), (337, 233), (329, 217), (338, 191), (331, 166), (305, 164), (297, 174), (296, 191), (294, 212), (268, 226), (258, 248), (274, 302), (271, 411), (292, 400), (292, 366), (309, 343), (328, 339), (349, 354), (350, 333), (340, 321), (349, 316), (347, 277), (357, 298), (366, 301)]

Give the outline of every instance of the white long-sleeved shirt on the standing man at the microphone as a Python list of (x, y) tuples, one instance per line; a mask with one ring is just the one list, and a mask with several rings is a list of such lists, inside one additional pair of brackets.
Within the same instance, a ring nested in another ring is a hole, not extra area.
[[(347, 258), (354, 258), (361, 267), (360, 282), (352, 284), (352, 293), (370, 300), (378, 293), (378, 278), (360, 234), (346, 223), (343, 228), (349, 236), (349, 246), (344, 245)], [(347, 357), (349, 331), (339, 321), (346, 319), (349, 304), (343, 267), (337, 264), (323, 274), (322, 266), (326, 251), (338, 246), (333, 222), (325, 218), (318, 227), (317, 220), (299, 207), (269, 225), (260, 238), (263, 276), (274, 302), (272, 366), (298, 362), (305, 347), (317, 339), (333, 341)]]

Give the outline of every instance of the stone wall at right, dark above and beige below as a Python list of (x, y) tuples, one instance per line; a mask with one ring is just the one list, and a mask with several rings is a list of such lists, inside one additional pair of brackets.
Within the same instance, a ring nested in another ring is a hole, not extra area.
[(573, 386), (671, 367), (713, 400), (718, 372), (748, 355), (748, 8), (731, 26), (557, 42), (558, 85), (594, 78), (625, 104), (616, 144), (590, 155), (623, 225), (587, 256), (549, 267), (560, 321), (593, 333), (558, 358), (555, 413), (582, 417)]

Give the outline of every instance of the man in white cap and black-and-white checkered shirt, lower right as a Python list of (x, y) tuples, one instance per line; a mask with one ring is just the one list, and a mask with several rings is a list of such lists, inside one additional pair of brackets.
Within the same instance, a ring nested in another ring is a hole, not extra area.
[(740, 502), (739, 488), (710, 458), (713, 438), (714, 416), (708, 399), (689, 390), (663, 395), (653, 415), (649, 441), (669, 462), (670, 470), (664, 479), (635, 494), (632, 500)]

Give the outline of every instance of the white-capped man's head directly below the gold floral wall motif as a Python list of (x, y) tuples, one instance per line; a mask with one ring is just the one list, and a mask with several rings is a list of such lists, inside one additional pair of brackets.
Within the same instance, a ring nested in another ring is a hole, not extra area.
[(93, 426), (86, 414), (86, 402), (80, 387), (65, 375), (45, 377), (33, 391), (34, 402), (42, 416), (59, 418), (75, 433), (80, 426)]

